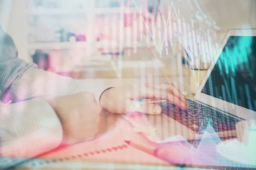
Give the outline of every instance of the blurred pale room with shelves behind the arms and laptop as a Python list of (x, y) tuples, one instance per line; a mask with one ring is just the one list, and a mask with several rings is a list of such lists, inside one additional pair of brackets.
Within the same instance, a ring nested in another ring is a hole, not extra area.
[(190, 81), (229, 29), (256, 28), (256, 0), (0, 0), (0, 25), (20, 59), (57, 74)]

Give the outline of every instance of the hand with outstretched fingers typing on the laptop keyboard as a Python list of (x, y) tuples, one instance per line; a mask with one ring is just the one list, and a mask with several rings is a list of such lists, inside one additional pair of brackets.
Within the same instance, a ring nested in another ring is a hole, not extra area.
[(111, 113), (131, 113), (134, 111), (147, 114), (160, 114), (162, 108), (153, 103), (137, 102), (132, 99), (157, 98), (167, 99), (181, 109), (188, 109), (186, 97), (170, 83), (156, 86), (143, 85), (134, 87), (110, 88), (103, 92), (100, 98), (102, 108)]

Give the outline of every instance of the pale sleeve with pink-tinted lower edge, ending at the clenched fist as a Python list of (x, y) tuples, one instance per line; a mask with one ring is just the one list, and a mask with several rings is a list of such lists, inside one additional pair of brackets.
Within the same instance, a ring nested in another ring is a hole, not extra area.
[(0, 105), (0, 155), (32, 158), (61, 144), (61, 122), (43, 99)]

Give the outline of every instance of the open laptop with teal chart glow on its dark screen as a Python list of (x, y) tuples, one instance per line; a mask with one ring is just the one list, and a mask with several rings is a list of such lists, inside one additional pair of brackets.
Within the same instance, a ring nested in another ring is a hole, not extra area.
[(163, 112), (147, 118), (160, 141), (180, 135), (193, 143), (209, 125), (222, 140), (236, 138), (238, 122), (256, 119), (255, 66), (256, 29), (229, 30), (187, 111), (155, 102)]

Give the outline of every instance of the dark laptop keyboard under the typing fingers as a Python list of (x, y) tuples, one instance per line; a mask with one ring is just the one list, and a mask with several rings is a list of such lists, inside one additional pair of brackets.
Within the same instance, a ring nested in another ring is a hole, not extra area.
[(199, 134), (204, 133), (204, 130), (200, 130), (199, 132), (202, 124), (204, 127), (207, 127), (208, 123), (210, 123), (216, 132), (220, 132), (235, 130), (236, 123), (241, 121), (204, 105), (201, 105), (200, 108), (200, 104), (192, 100), (188, 99), (187, 102), (189, 103), (189, 113), (196, 116), (190, 115), (186, 110), (177, 108), (175, 105), (168, 101), (156, 103), (162, 107), (162, 112), (164, 114), (177, 120), (181, 124), (189, 127), (189, 129)]

